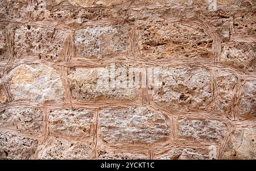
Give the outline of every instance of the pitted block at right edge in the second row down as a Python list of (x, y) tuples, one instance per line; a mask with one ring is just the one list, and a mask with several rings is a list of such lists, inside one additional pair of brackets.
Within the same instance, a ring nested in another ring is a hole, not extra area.
[(220, 62), (242, 71), (255, 71), (256, 42), (226, 42), (222, 44)]

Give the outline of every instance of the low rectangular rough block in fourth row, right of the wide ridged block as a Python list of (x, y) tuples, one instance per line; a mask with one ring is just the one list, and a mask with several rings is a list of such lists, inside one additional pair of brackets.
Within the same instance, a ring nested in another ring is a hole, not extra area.
[(180, 119), (179, 138), (220, 142), (227, 131), (226, 123), (209, 119)]

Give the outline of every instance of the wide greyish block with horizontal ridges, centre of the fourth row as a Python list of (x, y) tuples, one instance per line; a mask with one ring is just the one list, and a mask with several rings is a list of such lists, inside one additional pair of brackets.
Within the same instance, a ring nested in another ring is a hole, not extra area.
[(144, 108), (106, 108), (100, 113), (99, 123), (102, 140), (112, 144), (152, 144), (170, 134), (168, 118)]

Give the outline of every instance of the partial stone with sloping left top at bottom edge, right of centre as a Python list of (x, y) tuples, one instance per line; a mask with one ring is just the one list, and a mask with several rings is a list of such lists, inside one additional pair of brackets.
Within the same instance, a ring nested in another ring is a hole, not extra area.
[(216, 146), (209, 148), (175, 148), (156, 157), (159, 160), (209, 160), (217, 159)]

